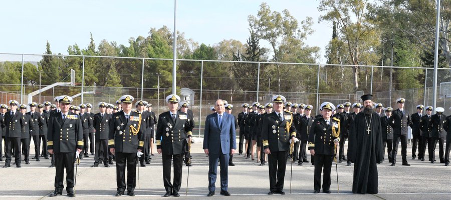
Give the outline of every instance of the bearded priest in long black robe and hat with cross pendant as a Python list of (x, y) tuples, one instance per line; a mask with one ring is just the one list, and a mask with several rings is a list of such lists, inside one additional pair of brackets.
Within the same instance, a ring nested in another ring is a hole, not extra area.
[[(361, 96), (364, 105), (362, 112), (355, 116), (352, 140), (355, 141), (354, 178), (352, 192), (377, 193), (378, 174), (376, 163), (383, 158), (382, 129), (379, 115), (373, 111), (373, 95)], [(351, 139), (350, 139), (351, 140)]]

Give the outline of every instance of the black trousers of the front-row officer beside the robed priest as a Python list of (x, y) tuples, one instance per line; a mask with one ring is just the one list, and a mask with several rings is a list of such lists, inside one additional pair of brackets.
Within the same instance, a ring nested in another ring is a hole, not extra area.
[(333, 155), (315, 154), (315, 175), (313, 187), (321, 189), (321, 170), (323, 170), (323, 191), (330, 189), (330, 171), (332, 169)]

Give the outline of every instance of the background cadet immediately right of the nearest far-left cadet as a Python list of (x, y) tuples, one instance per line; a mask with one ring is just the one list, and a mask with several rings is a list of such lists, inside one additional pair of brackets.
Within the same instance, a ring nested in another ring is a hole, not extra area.
[(30, 115), (27, 114), (28, 106), (26, 104), (19, 105), (19, 110), (22, 113), (21, 124), (21, 143), (22, 154), (24, 154), (25, 164), (30, 164), (30, 139), (34, 131), (34, 122)]

